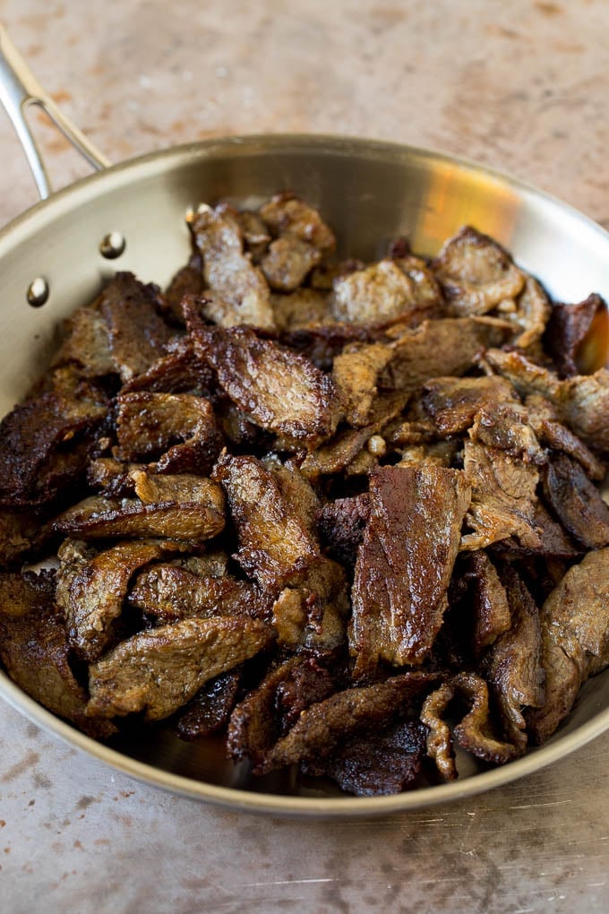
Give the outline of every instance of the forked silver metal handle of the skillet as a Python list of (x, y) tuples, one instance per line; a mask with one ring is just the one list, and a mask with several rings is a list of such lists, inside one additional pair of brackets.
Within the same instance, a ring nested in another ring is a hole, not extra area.
[(26, 122), (25, 114), (30, 105), (42, 108), (68, 142), (97, 171), (111, 165), (110, 159), (101, 154), (93, 143), (90, 143), (87, 137), (79, 131), (79, 128), (59, 111), (58, 106), (27, 67), (2, 23), (0, 23), (0, 101), (16, 129), (27, 162), (32, 169), (38, 193), (43, 200), (50, 197), (52, 188), (42, 155)]

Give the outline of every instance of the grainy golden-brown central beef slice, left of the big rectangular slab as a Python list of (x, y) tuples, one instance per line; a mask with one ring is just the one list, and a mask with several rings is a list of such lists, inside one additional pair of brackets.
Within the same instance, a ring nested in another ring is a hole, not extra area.
[(316, 539), (264, 463), (226, 454), (214, 475), (224, 488), (236, 526), (236, 559), (261, 588), (278, 592), (319, 558)]

